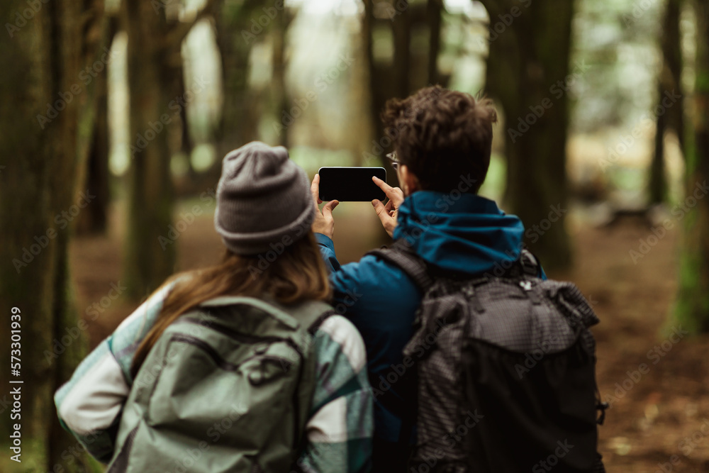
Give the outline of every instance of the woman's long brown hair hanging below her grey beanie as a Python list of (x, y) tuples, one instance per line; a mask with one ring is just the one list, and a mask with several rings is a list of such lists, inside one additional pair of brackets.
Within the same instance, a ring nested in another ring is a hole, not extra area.
[[(264, 267), (265, 266), (265, 267)], [(175, 274), (163, 287), (175, 283), (162, 305), (155, 324), (133, 357), (130, 374), (135, 378), (150, 349), (163, 331), (183, 313), (218, 296), (272, 296), (281, 304), (306, 300), (328, 301), (328, 272), (311, 230), (284, 248), (268, 262), (256, 256), (236, 255), (226, 250), (218, 265)]]

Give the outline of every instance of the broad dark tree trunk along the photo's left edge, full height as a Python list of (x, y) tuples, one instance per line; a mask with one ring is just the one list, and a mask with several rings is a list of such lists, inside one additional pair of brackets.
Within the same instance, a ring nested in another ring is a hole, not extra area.
[[(19, 311), (20, 328), (13, 329), (21, 330), (20, 346), (12, 347), (21, 351), (21, 361), (13, 360), (19, 374), (4, 370), (0, 381), (21, 390), (23, 414), (11, 421), (8, 412), (0, 425), (9, 435), (11, 424), (21, 423), (24, 468), (74, 472), (85, 471), (88, 463), (80, 453), (67, 460), (76, 442), (60, 433), (52, 397), (84, 354), (67, 243), (75, 218), (92, 204), (77, 189), (77, 175), (93, 130), (96, 81), (91, 77), (105, 74), (105, 67), (96, 66), (98, 42), (86, 38), (89, 33), (101, 38), (105, 23), (102, 1), (38, 5), (33, 11), (26, 1), (0, 4), (0, 16), (12, 18), (16, 27), (3, 40), (12, 44), (0, 47), (5, 98), (0, 148), (9, 159), (0, 164), (0, 302), (7, 314), (0, 324), (6, 347), (0, 361), (5, 366), (11, 361), (11, 313)], [(23, 383), (9, 384), (11, 374), (12, 381)]]

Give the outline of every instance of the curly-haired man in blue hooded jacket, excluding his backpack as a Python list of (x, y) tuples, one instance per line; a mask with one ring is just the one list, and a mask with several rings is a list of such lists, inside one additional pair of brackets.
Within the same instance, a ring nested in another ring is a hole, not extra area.
[[(382, 113), (393, 143), (388, 155), (401, 188), (374, 178), (389, 201), (372, 206), (394, 240), (405, 239), (432, 272), (464, 278), (493, 274), (518, 260), (524, 227), (477, 195), (490, 164), (496, 111), (489, 99), (427, 87), (392, 99)], [(312, 184), (318, 203), (319, 177)], [(333, 304), (362, 333), (374, 409), (374, 472), (406, 472), (415, 443), (416, 379), (403, 347), (413, 334), (422, 294), (404, 272), (374, 255), (340, 265), (333, 247), (330, 201), (313, 231), (330, 269)], [(543, 273), (542, 273), (543, 274)]]

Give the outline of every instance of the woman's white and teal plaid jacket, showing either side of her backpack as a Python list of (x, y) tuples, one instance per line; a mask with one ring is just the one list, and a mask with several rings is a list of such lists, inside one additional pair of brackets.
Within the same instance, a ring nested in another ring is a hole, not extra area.
[[(101, 462), (113, 455), (121, 409), (133, 379), (130, 364), (157, 318), (167, 284), (135, 310), (77, 367), (55, 394), (62, 425)], [(315, 333), (318, 382), (306, 425), (303, 472), (369, 472), (373, 397), (362, 337), (346, 318), (333, 315)]]

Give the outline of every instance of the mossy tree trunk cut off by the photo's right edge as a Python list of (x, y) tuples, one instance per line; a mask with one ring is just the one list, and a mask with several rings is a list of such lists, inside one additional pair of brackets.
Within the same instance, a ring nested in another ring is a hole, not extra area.
[[(697, 57), (693, 137), (687, 135), (686, 189), (679, 294), (674, 323), (691, 333), (709, 332), (709, 5), (696, 0)], [(693, 139), (692, 139), (693, 138)], [(693, 143), (691, 143), (693, 141)], [(674, 212), (673, 212), (674, 213)]]

